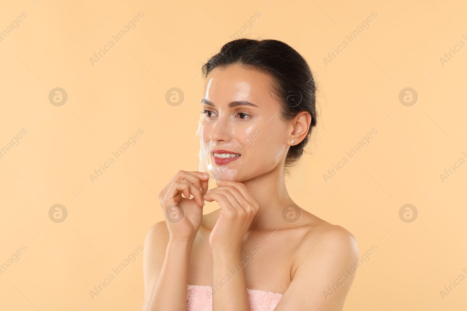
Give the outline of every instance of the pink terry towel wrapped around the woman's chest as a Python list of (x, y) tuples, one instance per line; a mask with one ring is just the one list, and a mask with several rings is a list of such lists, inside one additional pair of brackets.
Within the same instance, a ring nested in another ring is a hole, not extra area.
[[(272, 311), (276, 308), (282, 294), (267, 290), (247, 289), (250, 311)], [(188, 285), (186, 311), (212, 311), (212, 287)]]

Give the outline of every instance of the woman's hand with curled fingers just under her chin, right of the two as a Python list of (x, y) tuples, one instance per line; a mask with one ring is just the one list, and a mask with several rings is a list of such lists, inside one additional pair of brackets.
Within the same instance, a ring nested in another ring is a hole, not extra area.
[(209, 244), (220, 253), (238, 253), (243, 237), (258, 212), (258, 204), (242, 183), (218, 180), (216, 184), (219, 187), (208, 190), (204, 196), (208, 202), (218, 202), (221, 209)]

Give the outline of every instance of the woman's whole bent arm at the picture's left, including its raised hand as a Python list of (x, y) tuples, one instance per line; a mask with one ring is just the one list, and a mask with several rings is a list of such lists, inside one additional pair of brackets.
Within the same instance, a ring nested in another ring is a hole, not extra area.
[(156, 223), (144, 242), (142, 311), (186, 311), (191, 247), (203, 219), (208, 179), (201, 172), (179, 171), (159, 194), (165, 221)]

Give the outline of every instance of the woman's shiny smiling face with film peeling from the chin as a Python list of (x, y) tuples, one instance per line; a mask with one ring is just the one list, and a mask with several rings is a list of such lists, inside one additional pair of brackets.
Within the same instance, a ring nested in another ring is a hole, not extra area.
[(207, 76), (200, 155), (214, 179), (241, 182), (283, 166), (292, 125), (279, 117), (271, 83), (269, 75), (240, 66), (215, 68)]

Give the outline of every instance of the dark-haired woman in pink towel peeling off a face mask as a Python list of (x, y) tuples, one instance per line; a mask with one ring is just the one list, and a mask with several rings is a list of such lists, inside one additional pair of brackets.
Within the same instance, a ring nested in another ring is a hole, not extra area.
[[(159, 194), (166, 221), (146, 236), (142, 310), (342, 310), (357, 242), (285, 186), (317, 124), (307, 62), (281, 41), (237, 39), (203, 74), (207, 170), (179, 171)], [(220, 208), (203, 215), (205, 201)]]

